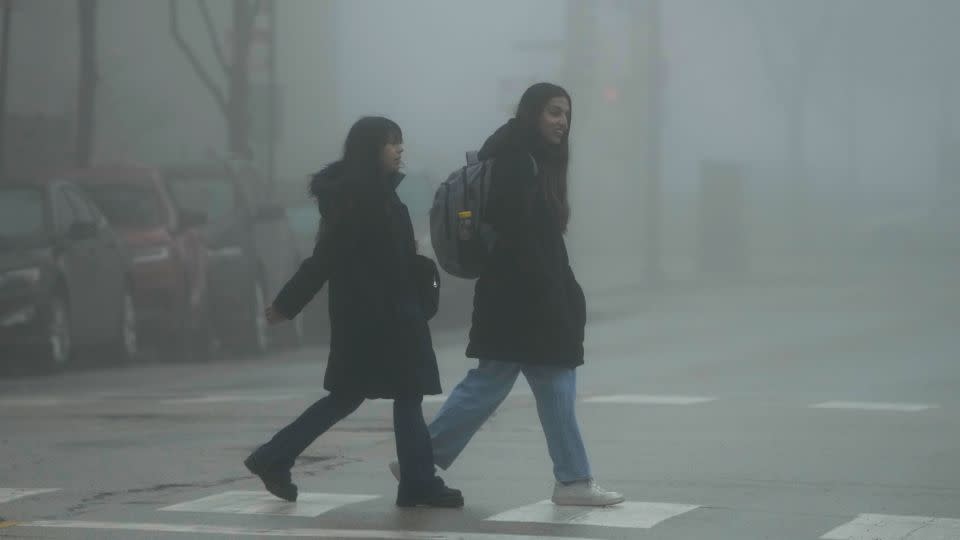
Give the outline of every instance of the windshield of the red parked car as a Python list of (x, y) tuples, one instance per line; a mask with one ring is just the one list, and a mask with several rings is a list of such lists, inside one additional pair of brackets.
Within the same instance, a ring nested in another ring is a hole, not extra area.
[(84, 189), (115, 227), (148, 229), (165, 222), (162, 203), (147, 186), (94, 184)]

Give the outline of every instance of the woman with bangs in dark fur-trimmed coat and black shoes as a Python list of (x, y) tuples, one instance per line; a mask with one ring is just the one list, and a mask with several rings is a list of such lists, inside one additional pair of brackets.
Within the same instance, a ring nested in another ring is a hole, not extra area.
[(313, 255), (267, 308), (271, 324), (290, 320), (330, 283), (330, 393), (244, 461), (282, 499), (297, 498), (290, 469), (307, 446), (365, 399), (393, 399), (404, 475), (397, 505), (463, 506), (460, 492), (434, 472), (423, 419), (423, 396), (440, 393), (421, 283), (432, 276), (419, 272), (410, 215), (396, 193), (402, 154), (402, 133), (391, 120), (354, 124), (343, 159), (311, 182), (321, 214)]

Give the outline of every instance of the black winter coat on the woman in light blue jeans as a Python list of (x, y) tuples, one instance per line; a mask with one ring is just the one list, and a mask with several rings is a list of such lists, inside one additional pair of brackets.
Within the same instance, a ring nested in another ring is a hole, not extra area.
[(467, 356), (576, 367), (586, 300), (530, 150), (512, 130), (512, 123), (500, 128), (479, 154), (494, 158), (483, 219), (497, 236), (477, 280)]

